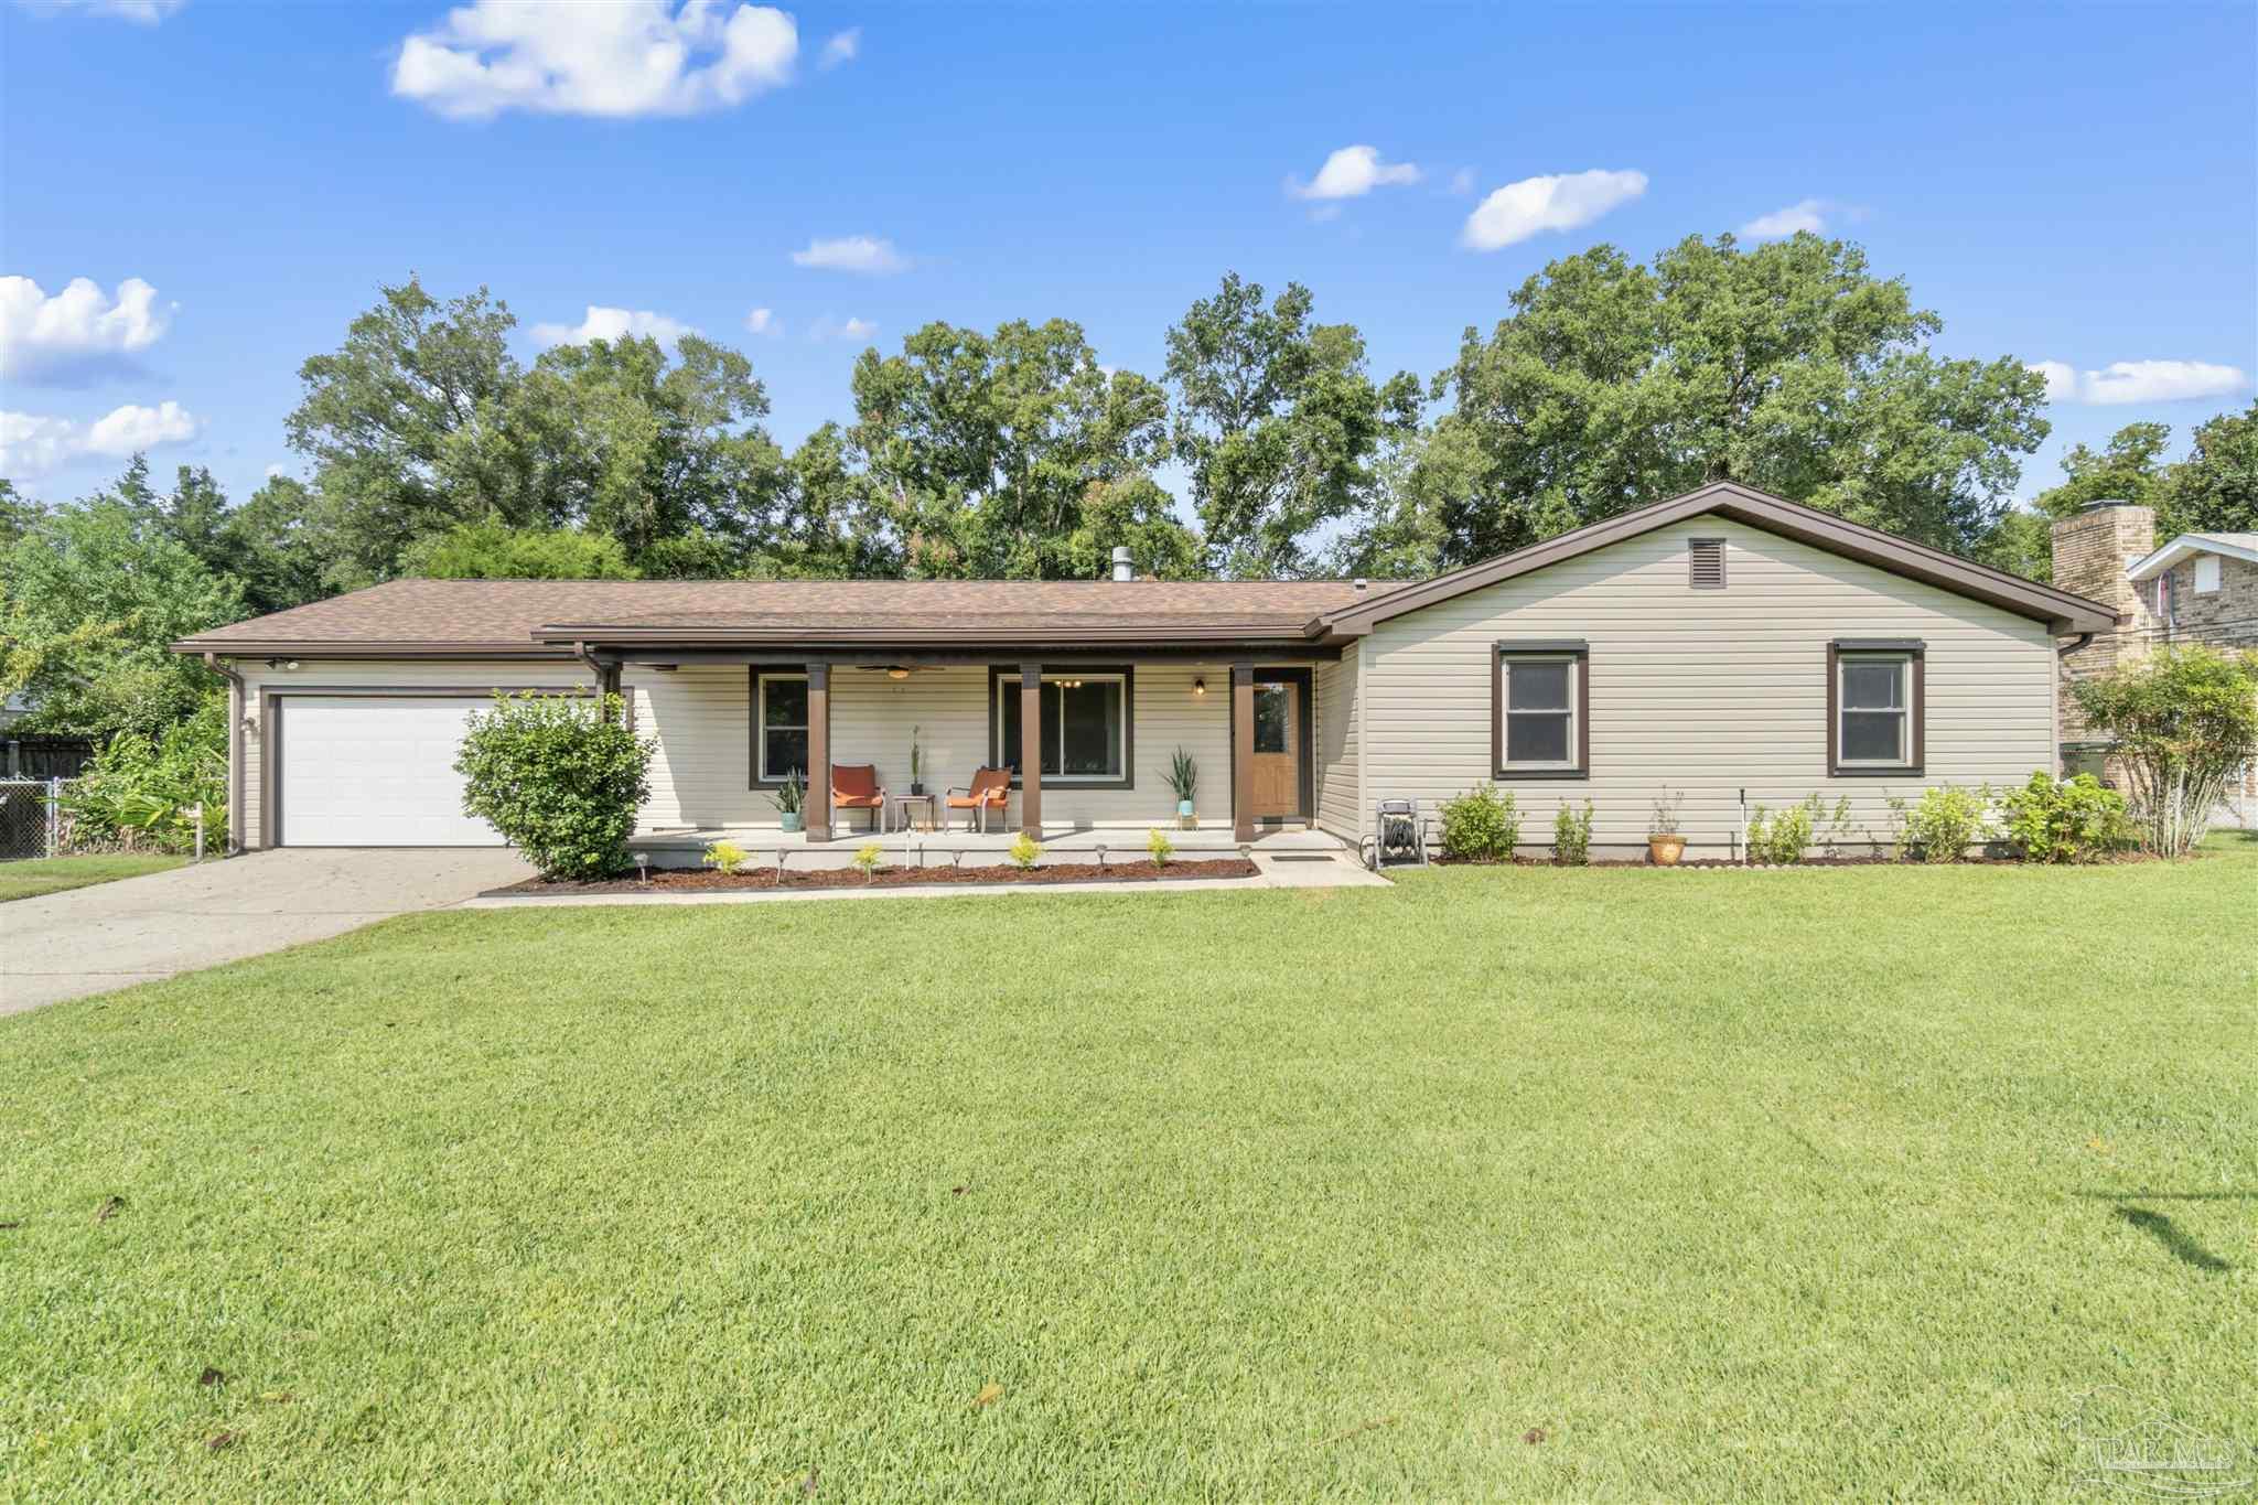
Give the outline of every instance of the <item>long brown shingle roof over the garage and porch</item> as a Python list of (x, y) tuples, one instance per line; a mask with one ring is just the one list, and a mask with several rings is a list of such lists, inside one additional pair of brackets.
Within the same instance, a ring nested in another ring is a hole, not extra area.
[[(1382, 587), (1373, 587), (1377, 591)], [(1346, 580), (393, 580), (215, 627), (183, 650), (513, 648), (653, 634), (964, 639), (1301, 636), (1357, 600)]]

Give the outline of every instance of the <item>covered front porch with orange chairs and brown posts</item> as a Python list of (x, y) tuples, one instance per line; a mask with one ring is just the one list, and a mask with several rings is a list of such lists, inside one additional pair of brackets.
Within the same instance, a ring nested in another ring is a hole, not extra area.
[[(1143, 853), (1152, 828), (1188, 855), (1339, 851), (1314, 830), (1316, 654), (1303, 645), (1262, 659), (1149, 648), (583, 654), (657, 740), (637, 844), (659, 864), (695, 862), (716, 839), (813, 860), (869, 839), (899, 855), (1005, 851), (1018, 833), (1088, 860), (1097, 846)], [(1194, 776), (1192, 828), (1179, 819), (1179, 765)], [(788, 821), (795, 774), (802, 808)], [(971, 806), (975, 785), (987, 799)]]

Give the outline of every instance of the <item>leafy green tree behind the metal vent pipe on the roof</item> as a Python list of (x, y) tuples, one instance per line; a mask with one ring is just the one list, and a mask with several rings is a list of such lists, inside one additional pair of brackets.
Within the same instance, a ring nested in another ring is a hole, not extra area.
[(1167, 456), (1167, 395), (1100, 370), (1070, 320), (926, 325), (865, 350), (854, 397), (849, 454), (910, 575), (1091, 578), (1118, 544), (1158, 573), (1194, 548), (1158, 485), (1129, 485)]

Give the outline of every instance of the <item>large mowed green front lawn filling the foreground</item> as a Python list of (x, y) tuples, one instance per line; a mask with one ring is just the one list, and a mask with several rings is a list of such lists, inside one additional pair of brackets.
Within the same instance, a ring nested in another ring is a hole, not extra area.
[(0, 1020), (0, 1478), (2071, 1491), (2098, 1385), (2258, 1442), (2253, 916), (2240, 842), (393, 921)]

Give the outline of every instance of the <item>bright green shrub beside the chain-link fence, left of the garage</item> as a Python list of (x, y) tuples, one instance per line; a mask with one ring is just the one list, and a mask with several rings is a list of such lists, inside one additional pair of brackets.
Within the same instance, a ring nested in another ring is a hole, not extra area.
[(228, 697), (208, 695), (196, 711), (156, 736), (120, 731), (70, 785), (72, 846), (140, 846), (192, 851), (203, 806), (205, 851), (228, 844)]

